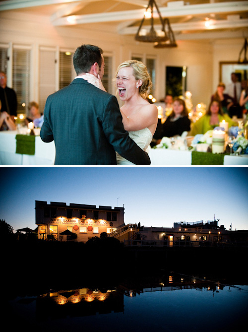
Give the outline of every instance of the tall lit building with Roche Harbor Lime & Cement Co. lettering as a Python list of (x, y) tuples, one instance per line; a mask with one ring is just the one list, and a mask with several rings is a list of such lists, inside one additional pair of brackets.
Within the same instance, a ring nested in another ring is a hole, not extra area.
[(124, 224), (124, 207), (35, 201), (38, 238), (66, 241), (71, 236), (61, 235), (69, 230), (77, 235), (75, 241), (87, 242), (101, 233), (111, 233)]

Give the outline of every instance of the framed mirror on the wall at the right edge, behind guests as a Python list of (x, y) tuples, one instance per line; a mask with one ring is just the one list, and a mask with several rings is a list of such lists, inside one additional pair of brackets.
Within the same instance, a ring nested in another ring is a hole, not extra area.
[(220, 82), (224, 84), (230, 84), (231, 73), (235, 72), (239, 76), (239, 81), (245, 81), (248, 79), (248, 64), (239, 64), (238, 62), (220, 62), (219, 66), (219, 78)]

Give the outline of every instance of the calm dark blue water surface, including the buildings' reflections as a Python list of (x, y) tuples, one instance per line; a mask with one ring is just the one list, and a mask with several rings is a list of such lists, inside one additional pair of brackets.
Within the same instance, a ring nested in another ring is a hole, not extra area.
[(247, 316), (248, 282), (173, 272), (100, 289), (83, 283), (35, 295), (16, 289), (6, 296), (2, 315), (10, 330), (104, 332), (242, 332)]

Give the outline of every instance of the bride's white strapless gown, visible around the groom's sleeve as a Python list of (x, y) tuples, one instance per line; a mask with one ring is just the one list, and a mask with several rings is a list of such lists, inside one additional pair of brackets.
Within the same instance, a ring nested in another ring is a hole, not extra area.
[[(142, 149), (146, 150), (152, 141), (152, 133), (148, 128), (144, 128), (135, 132), (128, 132), (130, 138)], [(117, 165), (135, 165), (129, 160), (123, 158), (119, 153), (116, 152)]]

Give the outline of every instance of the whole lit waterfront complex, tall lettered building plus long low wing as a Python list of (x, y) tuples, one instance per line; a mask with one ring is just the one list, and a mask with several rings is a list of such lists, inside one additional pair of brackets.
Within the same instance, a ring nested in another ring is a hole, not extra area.
[(35, 201), (38, 239), (87, 242), (107, 233), (125, 246), (201, 246), (247, 242), (248, 231), (226, 230), (219, 219), (175, 222), (173, 227), (124, 223), (124, 207)]

